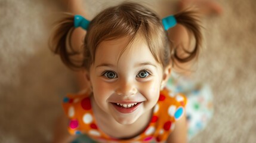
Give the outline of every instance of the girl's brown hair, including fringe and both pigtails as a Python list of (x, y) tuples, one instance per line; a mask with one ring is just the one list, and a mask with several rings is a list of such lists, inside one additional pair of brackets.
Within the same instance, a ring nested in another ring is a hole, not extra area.
[[(60, 55), (63, 63), (71, 69), (85, 67), (89, 70), (91, 64), (94, 63), (95, 52), (100, 42), (124, 36), (131, 38), (132, 42), (137, 35), (140, 35), (148, 44), (155, 60), (165, 68), (171, 59), (181, 63), (192, 60), (198, 54), (201, 45), (200, 27), (193, 13), (185, 11), (175, 14), (174, 17), (177, 23), (182, 24), (195, 36), (195, 48), (192, 52), (187, 51), (189, 56), (186, 58), (178, 57), (174, 47), (170, 46), (167, 32), (164, 30), (162, 20), (158, 15), (142, 5), (132, 2), (124, 2), (115, 7), (107, 8), (93, 18), (88, 27), (82, 51), (75, 51), (70, 45), (70, 37), (75, 29), (73, 27), (74, 15), (67, 15), (58, 21), (56, 30), (50, 38), (50, 47), (55, 54)], [(73, 58), (81, 55), (81, 53), (83, 54), (82, 60)], [(174, 54), (171, 55), (171, 53)]]

